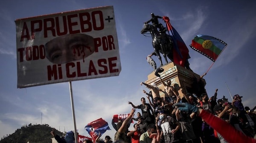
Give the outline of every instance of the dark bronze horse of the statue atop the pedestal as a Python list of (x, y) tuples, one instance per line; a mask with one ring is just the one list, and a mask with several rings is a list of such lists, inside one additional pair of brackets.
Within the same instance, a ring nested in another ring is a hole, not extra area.
[(167, 57), (173, 62), (173, 41), (172, 37), (163, 33), (161, 34), (156, 27), (153, 25), (150, 25), (148, 23), (144, 23), (144, 27), (140, 31), (141, 34), (145, 34), (147, 32), (150, 32), (152, 37), (152, 45), (154, 48), (154, 52), (157, 54), (157, 57), (160, 61), (161, 66), (163, 65), (162, 58), (160, 53), (163, 54), (163, 57), (166, 61), (166, 64), (168, 63)]

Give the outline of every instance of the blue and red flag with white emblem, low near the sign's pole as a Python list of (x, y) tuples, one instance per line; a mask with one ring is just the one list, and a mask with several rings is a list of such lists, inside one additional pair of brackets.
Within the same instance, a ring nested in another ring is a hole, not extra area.
[(99, 133), (103, 135), (106, 132), (106, 130), (111, 130), (108, 126), (108, 122), (106, 122), (102, 118), (99, 118), (95, 121), (88, 123), (84, 127), (84, 129), (92, 137), (93, 142), (95, 142), (96, 138), (99, 136)]

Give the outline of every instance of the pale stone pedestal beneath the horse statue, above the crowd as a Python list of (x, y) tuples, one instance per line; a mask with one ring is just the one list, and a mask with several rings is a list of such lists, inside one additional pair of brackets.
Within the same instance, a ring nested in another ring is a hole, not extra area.
[[(172, 86), (175, 87), (175, 90), (178, 91), (180, 98), (183, 97), (183, 93), (181, 92), (181, 88), (186, 91), (186, 93), (193, 93), (192, 84), (196, 79), (200, 79), (200, 76), (190, 70), (187, 70), (185, 67), (181, 67), (180, 65), (176, 65), (174, 62), (163, 65), (162, 68), (164, 71), (159, 73), (161, 79), (166, 83), (167, 80), (171, 79)], [(206, 82), (204, 79), (201, 79), (204, 86)], [(160, 78), (154, 75), (154, 72), (148, 75), (148, 80), (145, 81), (146, 84), (151, 84), (154, 82), (158, 88), (164, 90), (164, 86), (160, 81)], [(160, 92), (160, 96), (164, 97), (164, 93)], [(198, 95), (200, 96), (200, 95)]]

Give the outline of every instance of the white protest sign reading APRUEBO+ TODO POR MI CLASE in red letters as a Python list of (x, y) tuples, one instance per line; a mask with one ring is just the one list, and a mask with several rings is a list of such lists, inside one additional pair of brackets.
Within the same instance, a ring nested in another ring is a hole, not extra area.
[(118, 76), (113, 6), (19, 19), (17, 87)]

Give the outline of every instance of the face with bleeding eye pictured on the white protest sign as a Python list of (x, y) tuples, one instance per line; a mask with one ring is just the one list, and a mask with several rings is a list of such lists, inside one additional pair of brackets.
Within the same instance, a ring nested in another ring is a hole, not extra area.
[(95, 51), (93, 37), (87, 34), (59, 36), (45, 44), (47, 59), (55, 64), (81, 60)]

